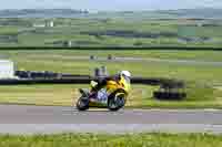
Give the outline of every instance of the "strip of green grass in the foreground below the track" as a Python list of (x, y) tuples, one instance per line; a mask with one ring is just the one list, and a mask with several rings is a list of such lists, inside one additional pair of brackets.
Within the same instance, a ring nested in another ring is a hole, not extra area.
[(208, 134), (0, 136), (0, 146), (3, 147), (180, 147), (181, 145), (185, 147), (220, 147), (222, 146), (222, 136)]

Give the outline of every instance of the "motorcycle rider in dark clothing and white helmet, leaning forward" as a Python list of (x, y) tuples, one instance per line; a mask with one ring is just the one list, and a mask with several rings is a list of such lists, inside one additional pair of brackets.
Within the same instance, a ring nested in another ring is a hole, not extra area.
[(101, 90), (103, 86), (107, 85), (108, 81), (115, 81), (119, 82), (121, 80), (121, 77), (131, 77), (131, 73), (129, 71), (121, 71), (120, 73), (115, 74), (114, 76), (108, 76), (102, 78), (101, 81), (98, 81), (98, 84), (95, 86), (92, 87), (92, 92), (98, 92), (99, 90)]

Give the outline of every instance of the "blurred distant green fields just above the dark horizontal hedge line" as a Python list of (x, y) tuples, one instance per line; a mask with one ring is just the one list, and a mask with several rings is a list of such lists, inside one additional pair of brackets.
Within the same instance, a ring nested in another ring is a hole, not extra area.
[(208, 19), (0, 19), (0, 46), (221, 48), (221, 20)]

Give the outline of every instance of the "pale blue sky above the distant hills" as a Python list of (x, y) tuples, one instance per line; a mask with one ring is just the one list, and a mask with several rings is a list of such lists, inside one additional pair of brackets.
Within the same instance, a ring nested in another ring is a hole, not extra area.
[(222, 8), (222, 0), (2, 0), (0, 9), (72, 8), (90, 11)]

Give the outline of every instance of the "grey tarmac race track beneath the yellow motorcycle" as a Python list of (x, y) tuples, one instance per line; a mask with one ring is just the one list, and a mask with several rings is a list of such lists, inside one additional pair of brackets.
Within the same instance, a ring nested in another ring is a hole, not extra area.
[(0, 105), (1, 134), (52, 133), (212, 133), (222, 134), (216, 109), (94, 109), (61, 106)]

